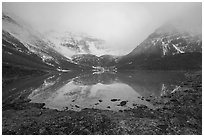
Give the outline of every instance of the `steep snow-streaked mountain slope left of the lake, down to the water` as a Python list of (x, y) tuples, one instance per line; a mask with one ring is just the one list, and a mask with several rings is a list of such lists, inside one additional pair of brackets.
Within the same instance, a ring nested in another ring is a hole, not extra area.
[(43, 71), (80, 69), (44, 41), (42, 34), (9, 13), (2, 14), (2, 63), (5, 71), (16, 67)]

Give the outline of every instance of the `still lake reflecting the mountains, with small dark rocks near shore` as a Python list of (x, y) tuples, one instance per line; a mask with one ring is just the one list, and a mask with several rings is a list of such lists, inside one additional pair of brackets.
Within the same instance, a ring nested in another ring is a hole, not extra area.
[(58, 110), (117, 111), (135, 105), (154, 108), (141, 97), (174, 92), (185, 79), (184, 72), (173, 71), (55, 73), (14, 81), (3, 88), (3, 103), (24, 96), (33, 103), (45, 103), (45, 107)]

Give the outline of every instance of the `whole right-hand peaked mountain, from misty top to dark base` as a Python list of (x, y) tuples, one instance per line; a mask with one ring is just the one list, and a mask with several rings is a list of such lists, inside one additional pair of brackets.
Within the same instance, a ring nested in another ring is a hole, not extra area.
[(132, 52), (120, 58), (118, 69), (198, 69), (202, 67), (202, 35), (172, 24), (156, 29)]

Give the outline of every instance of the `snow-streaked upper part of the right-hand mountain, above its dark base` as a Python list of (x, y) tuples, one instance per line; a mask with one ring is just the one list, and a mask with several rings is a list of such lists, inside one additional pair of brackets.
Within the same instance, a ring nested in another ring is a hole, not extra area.
[(138, 45), (130, 54), (160, 54), (161, 56), (180, 53), (201, 52), (202, 36), (182, 31), (173, 25), (163, 25)]

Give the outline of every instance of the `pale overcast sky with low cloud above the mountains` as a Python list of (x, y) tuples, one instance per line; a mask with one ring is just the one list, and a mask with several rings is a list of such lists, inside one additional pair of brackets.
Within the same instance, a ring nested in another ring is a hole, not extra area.
[(118, 52), (133, 50), (168, 20), (200, 25), (201, 3), (3, 3), (40, 32), (84, 32)]

